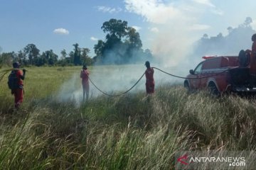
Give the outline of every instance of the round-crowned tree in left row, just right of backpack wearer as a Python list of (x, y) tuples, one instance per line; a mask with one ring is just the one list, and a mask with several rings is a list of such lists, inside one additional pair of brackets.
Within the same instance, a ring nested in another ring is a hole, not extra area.
[(34, 44), (28, 44), (24, 48), (24, 53), (28, 57), (28, 64), (36, 64), (40, 50)]

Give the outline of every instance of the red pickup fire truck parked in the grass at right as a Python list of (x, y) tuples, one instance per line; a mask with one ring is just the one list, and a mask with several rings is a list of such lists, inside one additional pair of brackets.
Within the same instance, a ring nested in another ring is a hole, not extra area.
[(256, 93), (255, 78), (249, 64), (241, 67), (238, 56), (203, 57), (195, 69), (191, 69), (184, 81), (188, 91), (209, 89), (212, 94), (224, 92)]

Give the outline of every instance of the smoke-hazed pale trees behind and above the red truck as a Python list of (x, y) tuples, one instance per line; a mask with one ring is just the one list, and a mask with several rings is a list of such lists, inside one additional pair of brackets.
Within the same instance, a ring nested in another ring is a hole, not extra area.
[(203, 37), (194, 44), (193, 56), (238, 55), (240, 50), (250, 49), (252, 47), (251, 37), (256, 33), (251, 23), (252, 18), (247, 17), (235, 28), (228, 26), (228, 34), (225, 36), (223, 33), (212, 37), (206, 33), (203, 34)]

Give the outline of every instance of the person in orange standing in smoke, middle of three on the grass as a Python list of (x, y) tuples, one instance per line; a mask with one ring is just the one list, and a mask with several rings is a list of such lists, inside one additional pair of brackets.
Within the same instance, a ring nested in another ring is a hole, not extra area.
[(86, 65), (83, 65), (82, 67), (82, 70), (80, 72), (80, 78), (82, 79), (82, 101), (85, 101), (85, 95), (87, 101), (89, 98), (89, 72)]

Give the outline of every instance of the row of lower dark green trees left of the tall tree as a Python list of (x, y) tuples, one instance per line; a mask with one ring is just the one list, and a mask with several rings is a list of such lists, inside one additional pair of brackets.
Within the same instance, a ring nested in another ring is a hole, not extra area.
[(81, 65), (92, 64), (92, 59), (89, 57), (90, 50), (88, 48), (80, 48), (78, 43), (73, 45), (75, 48), (67, 55), (65, 50), (62, 50), (59, 58), (53, 50), (46, 50), (40, 53), (40, 50), (34, 44), (28, 44), (23, 50), (15, 52), (3, 52), (0, 54), (1, 64), (11, 65), (13, 61), (21, 62), (21, 64), (35, 66), (53, 66), (53, 65)]

